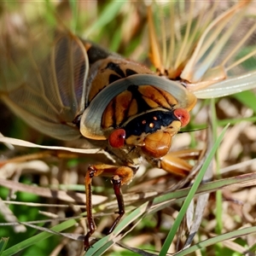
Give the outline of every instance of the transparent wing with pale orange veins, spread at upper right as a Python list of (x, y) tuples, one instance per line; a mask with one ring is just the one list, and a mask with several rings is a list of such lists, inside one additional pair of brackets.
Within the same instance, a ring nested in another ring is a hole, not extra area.
[(254, 1), (177, 1), (152, 9), (150, 53), (159, 73), (181, 79), (199, 98), (256, 87)]

